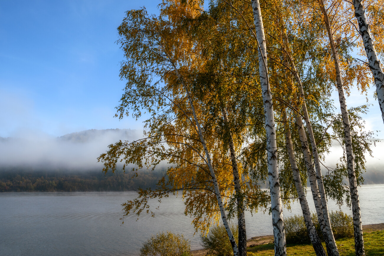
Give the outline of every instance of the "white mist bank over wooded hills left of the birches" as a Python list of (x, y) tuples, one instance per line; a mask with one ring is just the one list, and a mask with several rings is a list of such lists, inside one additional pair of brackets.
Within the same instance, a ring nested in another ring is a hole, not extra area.
[(137, 140), (142, 132), (131, 129), (85, 130), (61, 137), (29, 135), (26, 138), (0, 137), (2, 167), (32, 168), (102, 168), (97, 157), (108, 150), (108, 145), (119, 140)]

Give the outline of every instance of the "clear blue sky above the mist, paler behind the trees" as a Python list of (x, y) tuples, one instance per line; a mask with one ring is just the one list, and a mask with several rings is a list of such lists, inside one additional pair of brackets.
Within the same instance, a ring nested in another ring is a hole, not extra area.
[[(145, 6), (157, 13), (158, 4), (0, 0), (0, 136), (141, 129), (141, 121), (113, 117), (125, 84), (119, 80), (122, 51), (114, 42), (126, 10)], [(373, 91), (366, 125), (384, 130)], [(365, 103), (353, 90), (348, 106)]]

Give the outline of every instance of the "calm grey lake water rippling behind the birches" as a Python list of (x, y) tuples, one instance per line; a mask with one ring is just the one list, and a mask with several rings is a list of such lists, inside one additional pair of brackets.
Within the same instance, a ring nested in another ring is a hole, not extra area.
[[(384, 185), (359, 188), (363, 225), (384, 222), (383, 195)], [(135, 197), (135, 192), (0, 193), (0, 255), (134, 256), (152, 234), (166, 230), (183, 233), (191, 249), (201, 248), (180, 197), (164, 199), (155, 218), (143, 214), (136, 221), (132, 215), (122, 225), (121, 203)], [(151, 205), (156, 207), (157, 200)], [(313, 202), (310, 207), (314, 211)], [(328, 207), (339, 209), (332, 201)], [(346, 206), (342, 210), (351, 214)], [(301, 214), (300, 204), (283, 213)], [(246, 217), (248, 238), (272, 234), (270, 215)]]

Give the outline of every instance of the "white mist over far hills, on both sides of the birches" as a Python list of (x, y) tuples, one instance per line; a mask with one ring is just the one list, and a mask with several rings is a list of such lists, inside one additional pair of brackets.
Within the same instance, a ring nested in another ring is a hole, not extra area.
[[(84, 130), (60, 137), (29, 136), (28, 138), (0, 137), (0, 166), (29, 170), (101, 170), (97, 157), (118, 140), (136, 140), (142, 132), (131, 129)], [(366, 156), (367, 172), (364, 184), (384, 183), (384, 140), (372, 145), (373, 158)], [(334, 143), (325, 165), (334, 167), (342, 155), (340, 145)]]

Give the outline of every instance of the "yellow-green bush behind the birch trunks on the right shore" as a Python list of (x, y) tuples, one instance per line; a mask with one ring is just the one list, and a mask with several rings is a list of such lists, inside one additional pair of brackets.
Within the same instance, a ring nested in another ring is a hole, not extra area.
[[(353, 219), (343, 211), (331, 211), (329, 213), (332, 231), (335, 239), (353, 237)], [(319, 238), (323, 241), (319, 221), (315, 213), (312, 214), (313, 225)], [(292, 216), (284, 220), (285, 237), (287, 243), (305, 244), (311, 243), (303, 216)]]

